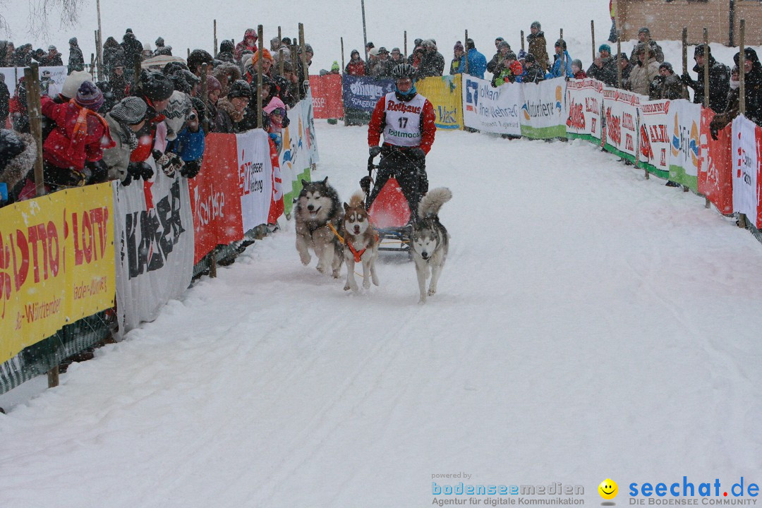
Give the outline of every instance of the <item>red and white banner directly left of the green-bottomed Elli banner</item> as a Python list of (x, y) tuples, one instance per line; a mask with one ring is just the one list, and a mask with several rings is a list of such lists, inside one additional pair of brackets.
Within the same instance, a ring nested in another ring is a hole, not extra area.
[(670, 103), (674, 101), (644, 101), (640, 103), (640, 166), (660, 178), (669, 176), (671, 136), (669, 135)]

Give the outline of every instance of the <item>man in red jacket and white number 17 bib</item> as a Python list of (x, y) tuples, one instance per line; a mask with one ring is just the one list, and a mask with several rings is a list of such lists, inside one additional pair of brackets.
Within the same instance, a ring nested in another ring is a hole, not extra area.
[[(368, 152), (381, 154), (376, 182), (367, 206), (376, 199), (386, 181), (396, 177), (408, 200), (411, 216), (418, 216), (418, 201), (428, 190), (426, 155), (434, 143), (434, 107), (415, 90), (415, 67), (407, 63), (392, 69), (395, 91), (381, 97), (368, 126)], [(379, 140), (383, 133), (383, 145)]]

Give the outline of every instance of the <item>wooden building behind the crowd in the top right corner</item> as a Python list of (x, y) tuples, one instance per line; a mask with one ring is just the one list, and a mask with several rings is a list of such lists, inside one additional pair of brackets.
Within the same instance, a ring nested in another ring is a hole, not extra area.
[(638, 38), (640, 27), (648, 27), (654, 40), (681, 40), (688, 28), (688, 43), (709, 41), (738, 46), (738, 21), (745, 20), (747, 46), (762, 45), (762, 2), (760, 0), (613, 0), (616, 26), (622, 40)]

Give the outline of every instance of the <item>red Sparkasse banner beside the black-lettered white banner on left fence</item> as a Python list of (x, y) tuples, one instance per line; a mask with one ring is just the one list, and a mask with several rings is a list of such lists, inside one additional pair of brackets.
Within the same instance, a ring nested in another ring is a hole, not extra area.
[(194, 264), (219, 244), (243, 238), (235, 134), (210, 134), (200, 173), (188, 180), (196, 232)]

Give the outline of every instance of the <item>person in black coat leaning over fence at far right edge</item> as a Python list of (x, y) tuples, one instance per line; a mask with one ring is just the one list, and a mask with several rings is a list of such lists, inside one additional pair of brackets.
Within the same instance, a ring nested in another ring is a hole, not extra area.
[[(747, 117), (752, 122), (762, 126), (762, 64), (757, 56), (757, 52), (752, 48), (744, 48), (744, 61), (739, 59), (740, 53), (735, 53), (733, 59), (738, 68), (744, 72), (744, 96), (746, 98)], [(738, 116), (740, 107), (741, 89), (735, 88), (728, 94), (728, 106), (725, 111), (717, 113), (709, 123), (709, 132), (712, 138), (716, 138), (717, 131), (722, 129), (728, 123), (731, 123)]]

